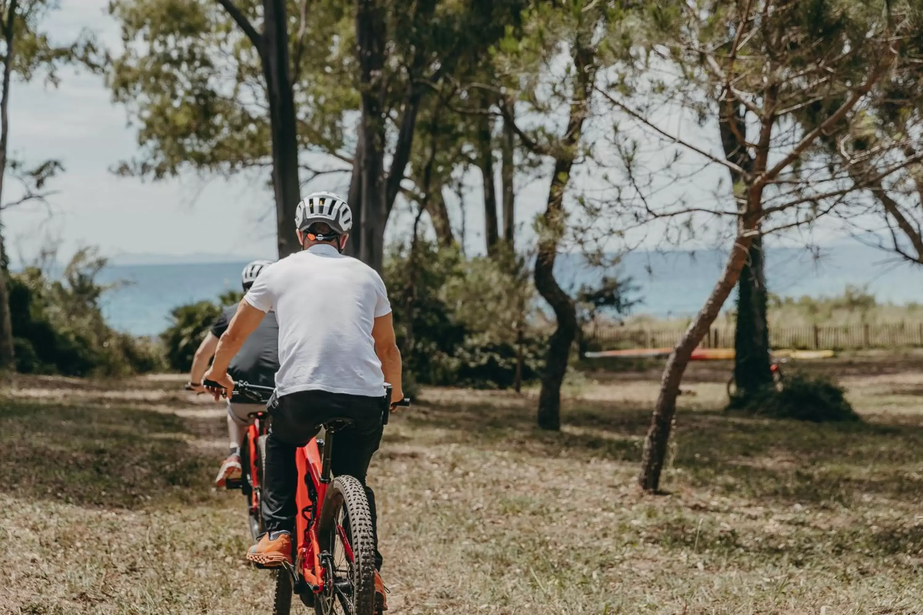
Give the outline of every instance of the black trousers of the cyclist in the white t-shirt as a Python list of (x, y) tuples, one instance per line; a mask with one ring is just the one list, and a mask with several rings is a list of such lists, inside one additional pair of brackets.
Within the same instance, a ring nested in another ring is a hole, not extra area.
[(288, 530), (294, 533), (295, 514), (298, 513), (295, 506), (298, 486), (295, 448), (304, 446), (316, 436), (324, 422), (352, 419), (354, 426), (336, 432), (330, 467), (333, 476), (348, 474), (359, 479), (366, 488), (375, 538), (375, 564), (378, 570), (381, 569), (375, 493), (366, 485), (366, 472), (372, 455), (381, 443), (383, 404), (384, 396), (366, 397), (327, 391), (299, 391), (275, 400), (270, 406), (272, 423), (266, 440), (263, 477), (262, 511), (266, 531)]

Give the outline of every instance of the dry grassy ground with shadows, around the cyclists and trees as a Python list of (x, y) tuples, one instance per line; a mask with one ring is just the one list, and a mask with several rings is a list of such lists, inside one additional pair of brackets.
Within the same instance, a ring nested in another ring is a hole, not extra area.
[[(849, 426), (728, 418), (690, 378), (661, 496), (633, 483), (651, 377), (571, 386), (555, 434), (532, 396), (427, 390), (371, 471), (390, 612), (923, 612), (923, 376), (882, 372), (847, 376)], [(270, 612), (210, 488), (222, 410), (179, 384), (6, 390), (0, 612)]]

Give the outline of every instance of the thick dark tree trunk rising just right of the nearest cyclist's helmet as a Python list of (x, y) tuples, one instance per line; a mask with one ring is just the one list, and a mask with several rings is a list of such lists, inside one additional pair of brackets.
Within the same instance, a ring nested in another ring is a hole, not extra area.
[(362, 155), (355, 162), (359, 172), (358, 253), (379, 273), (384, 260), (385, 218), (385, 10), (378, 0), (356, 0), (356, 48), (359, 54), (359, 87), (362, 98), (360, 140)]

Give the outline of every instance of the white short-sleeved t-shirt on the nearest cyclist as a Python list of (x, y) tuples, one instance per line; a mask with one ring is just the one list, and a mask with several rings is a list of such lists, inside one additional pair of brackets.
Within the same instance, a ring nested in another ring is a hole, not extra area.
[(391, 305), (375, 269), (332, 245), (312, 245), (264, 268), (244, 299), (279, 320), (280, 396), (385, 395), (372, 326)]

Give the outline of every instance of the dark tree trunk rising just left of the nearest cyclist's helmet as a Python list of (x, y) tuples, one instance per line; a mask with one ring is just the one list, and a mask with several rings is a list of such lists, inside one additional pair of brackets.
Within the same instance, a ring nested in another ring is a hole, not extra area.
[(294, 229), (294, 212), (301, 200), (298, 179), (298, 124), (289, 73), (288, 24), (284, 0), (263, 0), (263, 73), (270, 101), (272, 187), (276, 199), (279, 257), (301, 249)]

